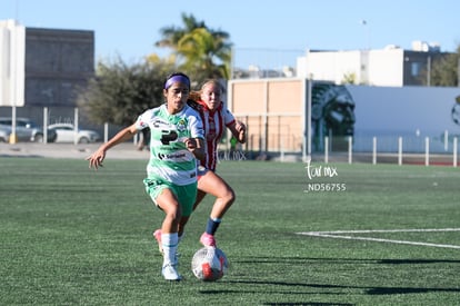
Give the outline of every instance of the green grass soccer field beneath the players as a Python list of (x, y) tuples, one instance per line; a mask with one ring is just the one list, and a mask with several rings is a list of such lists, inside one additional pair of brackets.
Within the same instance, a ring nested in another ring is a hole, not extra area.
[(237, 191), (217, 235), (229, 274), (190, 270), (207, 198), (180, 245), (186, 279), (169, 283), (144, 166), (0, 158), (0, 305), (460, 305), (457, 168), (312, 164), (310, 179), (304, 164), (223, 161)]

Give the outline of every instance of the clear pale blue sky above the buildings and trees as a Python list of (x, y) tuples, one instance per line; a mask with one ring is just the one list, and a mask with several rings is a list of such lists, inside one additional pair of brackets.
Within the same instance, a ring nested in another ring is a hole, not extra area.
[(93, 30), (97, 60), (120, 56), (127, 62), (166, 55), (153, 46), (159, 30), (182, 26), (181, 13), (191, 13), (230, 33), (237, 67), (294, 65), (307, 49), (411, 49), (414, 40), (456, 51), (459, 11), (458, 0), (0, 0), (0, 20)]

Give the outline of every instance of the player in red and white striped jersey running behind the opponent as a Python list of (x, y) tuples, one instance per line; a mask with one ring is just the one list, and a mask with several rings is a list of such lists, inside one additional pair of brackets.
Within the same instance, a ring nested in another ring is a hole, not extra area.
[[(214, 234), (221, 223), (221, 219), (229, 207), (234, 201), (233, 189), (216, 174), (218, 162), (218, 144), (222, 138), (226, 128), (229, 128), (234, 138), (241, 142), (246, 142), (246, 126), (236, 120), (233, 115), (227, 109), (221, 100), (223, 88), (218, 80), (206, 81), (199, 92), (192, 92), (193, 100), (189, 100), (194, 109), (200, 113), (204, 126), (206, 136), (206, 158), (201, 160), (198, 167), (198, 196), (193, 210), (198, 207), (207, 194), (216, 197), (211, 214), (204, 233), (200, 237), (200, 243), (204, 246), (216, 247)], [(188, 218), (182, 218), (179, 231), (183, 227)], [(161, 230), (153, 233), (161, 250)]]

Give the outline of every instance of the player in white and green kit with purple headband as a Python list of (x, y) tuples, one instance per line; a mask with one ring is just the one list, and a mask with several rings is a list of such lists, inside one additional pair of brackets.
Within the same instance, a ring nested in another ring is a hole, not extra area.
[(193, 210), (197, 198), (197, 159), (204, 158), (204, 132), (198, 112), (187, 105), (190, 79), (172, 73), (164, 82), (166, 103), (141, 113), (134, 124), (122, 129), (87, 159), (90, 168), (102, 166), (111, 147), (150, 128), (150, 159), (147, 166), (146, 190), (166, 216), (161, 226), (163, 249), (162, 275), (180, 280), (177, 270), (179, 224)]

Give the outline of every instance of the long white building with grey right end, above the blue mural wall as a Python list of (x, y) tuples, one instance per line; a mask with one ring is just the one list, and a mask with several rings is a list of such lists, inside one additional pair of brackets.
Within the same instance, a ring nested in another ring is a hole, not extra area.
[(336, 83), (429, 86), (432, 60), (446, 55), (439, 46), (421, 41), (414, 41), (412, 50), (397, 46), (381, 50), (311, 50), (298, 58), (297, 76)]

